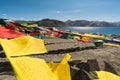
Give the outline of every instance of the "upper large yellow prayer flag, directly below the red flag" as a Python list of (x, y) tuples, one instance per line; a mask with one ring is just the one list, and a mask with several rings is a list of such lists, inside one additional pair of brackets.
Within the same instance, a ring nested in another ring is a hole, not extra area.
[(47, 52), (44, 41), (31, 36), (22, 36), (11, 40), (0, 39), (0, 43), (7, 57)]

